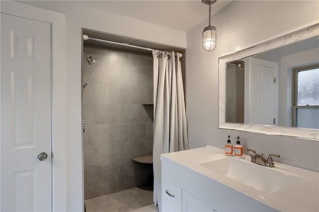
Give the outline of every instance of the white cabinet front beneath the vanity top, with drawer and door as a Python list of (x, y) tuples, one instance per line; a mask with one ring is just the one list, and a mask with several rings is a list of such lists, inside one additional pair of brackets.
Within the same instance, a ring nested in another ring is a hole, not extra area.
[(217, 212), (166, 178), (162, 178), (162, 212)]

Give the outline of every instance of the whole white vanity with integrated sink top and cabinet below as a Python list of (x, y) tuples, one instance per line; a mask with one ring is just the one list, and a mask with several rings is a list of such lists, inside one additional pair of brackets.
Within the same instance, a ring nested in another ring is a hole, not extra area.
[(162, 154), (162, 212), (319, 212), (319, 173), (225, 156), (212, 146)]

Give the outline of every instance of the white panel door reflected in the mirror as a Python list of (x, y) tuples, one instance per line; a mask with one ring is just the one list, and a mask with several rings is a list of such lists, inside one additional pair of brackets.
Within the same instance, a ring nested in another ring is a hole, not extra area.
[(249, 123), (277, 125), (278, 63), (251, 58)]

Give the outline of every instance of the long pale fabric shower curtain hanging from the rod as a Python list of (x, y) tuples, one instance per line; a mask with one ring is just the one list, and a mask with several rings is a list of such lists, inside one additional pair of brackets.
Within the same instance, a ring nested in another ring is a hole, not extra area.
[[(154, 58), (154, 203), (161, 212), (160, 154), (188, 149), (179, 53), (153, 51)], [(169, 59), (168, 59), (169, 58)]]

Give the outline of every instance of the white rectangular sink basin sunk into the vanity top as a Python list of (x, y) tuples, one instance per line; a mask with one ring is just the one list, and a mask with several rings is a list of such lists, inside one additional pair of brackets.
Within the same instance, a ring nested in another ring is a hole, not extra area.
[(295, 184), (301, 177), (235, 158), (223, 158), (200, 164), (215, 173), (253, 187), (265, 195)]

